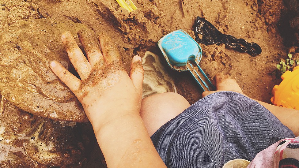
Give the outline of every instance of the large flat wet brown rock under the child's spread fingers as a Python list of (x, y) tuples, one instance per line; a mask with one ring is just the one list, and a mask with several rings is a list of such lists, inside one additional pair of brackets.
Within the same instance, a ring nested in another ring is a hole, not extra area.
[[(84, 110), (69, 88), (51, 71), (58, 61), (74, 72), (60, 35), (86, 28), (72, 21), (22, 20), (0, 32), (0, 91), (15, 106), (42, 118), (87, 122)], [(82, 48), (82, 47), (81, 47)]]

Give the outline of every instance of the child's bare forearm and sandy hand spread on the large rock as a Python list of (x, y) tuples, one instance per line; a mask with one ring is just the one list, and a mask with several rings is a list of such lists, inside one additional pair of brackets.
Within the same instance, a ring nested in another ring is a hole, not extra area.
[(84, 30), (78, 34), (88, 60), (70, 32), (62, 34), (62, 42), (82, 80), (58, 62), (52, 62), (51, 69), (82, 103), (107, 166), (166, 167), (139, 115), (141, 58), (133, 58), (128, 76), (120, 52), (110, 37), (102, 35), (99, 43), (93, 32)]

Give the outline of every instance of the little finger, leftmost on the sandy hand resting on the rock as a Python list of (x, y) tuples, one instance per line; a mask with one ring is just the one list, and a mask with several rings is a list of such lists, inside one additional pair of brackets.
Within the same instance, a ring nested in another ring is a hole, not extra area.
[(50, 67), (55, 75), (64, 83), (71, 91), (76, 91), (79, 88), (81, 80), (75, 77), (67, 69), (56, 61), (51, 62)]

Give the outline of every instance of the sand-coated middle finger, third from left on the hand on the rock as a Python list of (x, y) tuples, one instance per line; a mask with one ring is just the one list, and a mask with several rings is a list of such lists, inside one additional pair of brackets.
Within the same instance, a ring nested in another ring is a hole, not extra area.
[(93, 30), (81, 29), (78, 32), (78, 37), (84, 47), (88, 61), (93, 68), (96, 63), (97, 66), (104, 65), (104, 57), (100, 50), (100, 43)]

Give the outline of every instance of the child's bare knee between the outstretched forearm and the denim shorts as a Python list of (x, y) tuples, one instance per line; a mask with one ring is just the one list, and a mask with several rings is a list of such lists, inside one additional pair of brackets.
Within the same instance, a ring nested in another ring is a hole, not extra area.
[(181, 95), (173, 92), (151, 95), (142, 99), (140, 116), (149, 135), (190, 106)]

